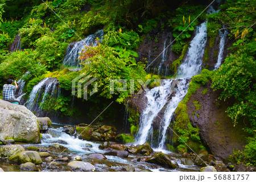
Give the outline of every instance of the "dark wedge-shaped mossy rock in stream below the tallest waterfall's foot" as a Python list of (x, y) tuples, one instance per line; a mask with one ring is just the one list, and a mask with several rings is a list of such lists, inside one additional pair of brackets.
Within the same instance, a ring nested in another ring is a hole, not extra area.
[(159, 164), (160, 166), (167, 167), (167, 168), (176, 168), (174, 163), (172, 163), (171, 159), (168, 155), (163, 154), (162, 152), (157, 152), (151, 158), (147, 159), (146, 162)]

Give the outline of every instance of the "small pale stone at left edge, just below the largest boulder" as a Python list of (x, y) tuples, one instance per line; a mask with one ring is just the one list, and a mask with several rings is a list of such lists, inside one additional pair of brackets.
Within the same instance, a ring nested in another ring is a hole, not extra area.
[(25, 151), (22, 146), (19, 144), (12, 144), (9, 146), (3, 146), (0, 148), (0, 157), (9, 158), (14, 154), (18, 154), (19, 152)]

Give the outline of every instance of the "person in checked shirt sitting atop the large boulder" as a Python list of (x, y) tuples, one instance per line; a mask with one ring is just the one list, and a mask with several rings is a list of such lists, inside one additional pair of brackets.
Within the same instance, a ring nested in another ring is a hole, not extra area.
[(6, 82), (7, 84), (3, 85), (3, 100), (8, 102), (18, 102), (20, 104), (20, 100), (14, 97), (14, 89), (18, 88), (16, 80), (13, 81), (9, 78)]

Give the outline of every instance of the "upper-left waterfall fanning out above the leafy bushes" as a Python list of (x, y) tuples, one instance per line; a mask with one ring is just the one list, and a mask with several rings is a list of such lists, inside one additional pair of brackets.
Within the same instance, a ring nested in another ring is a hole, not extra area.
[(85, 46), (97, 46), (96, 38), (103, 39), (103, 30), (97, 31), (95, 34), (87, 36), (78, 42), (72, 42), (68, 45), (67, 53), (64, 57), (63, 64), (67, 67), (82, 68), (79, 60), (80, 53)]

